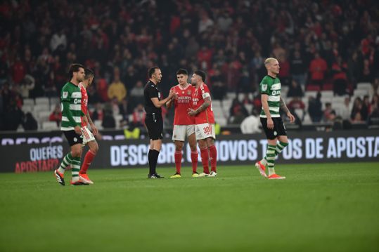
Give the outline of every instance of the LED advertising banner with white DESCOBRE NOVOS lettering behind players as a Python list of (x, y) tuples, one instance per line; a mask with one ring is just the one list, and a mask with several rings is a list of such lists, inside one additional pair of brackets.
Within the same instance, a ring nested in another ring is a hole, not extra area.
[[(217, 135), (217, 164), (254, 164), (266, 153), (264, 135)], [(102, 140), (91, 168), (148, 167), (148, 140)], [(0, 146), (0, 172), (52, 171), (68, 152), (63, 141)], [(88, 147), (84, 147), (84, 152)], [(175, 145), (165, 139), (160, 166), (174, 167)], [(84, 155), (83, 155), (84, 156)], [(278, 164), (379, 161), (379, 131), (290, 132), (289, 145)], [(199, 154), (199, 167), (201, 166)], [(184, 146), (183, 165), (191, 164), (191, 149)]]

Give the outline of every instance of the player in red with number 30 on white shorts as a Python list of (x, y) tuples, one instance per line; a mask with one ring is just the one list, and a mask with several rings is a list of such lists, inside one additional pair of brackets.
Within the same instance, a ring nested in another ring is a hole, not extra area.
[[(191, 84), (195, 86), (192, 94), (192, 108), (188, 109), (188, 114), (195, 117), (195, 135), (200, 147), (200, 155), (204, 171), (200, 177), (216, 177), (217, 150), (214, 145), (216, 134), (214, 133), (214, 115), (212, 111), (212, 101), (210, 89), (204, 83), (205, 72), (195, 71), (192, 75)], [(209, 159), (211, 171), (209, 168)]]

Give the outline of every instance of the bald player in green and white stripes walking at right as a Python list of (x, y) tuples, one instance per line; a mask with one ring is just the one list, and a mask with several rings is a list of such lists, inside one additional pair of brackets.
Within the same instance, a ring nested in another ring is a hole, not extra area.
[[(259, 84), (262, 99), (262, 112), (259, 117), (269, 146), (266, 150), (266, 157), (257, 161), (255, 167), (265, 178), (284, 179), (285, 177), (275, 173), (274, 168), (276, 155), (280, 154), (288, 145), (287, 131), (285, 131), (279, 110), (282, 109), (287, 114), (290, 122), (295, 121), (295, 117), (281, 98), (281, 81), (277, 77), (280, 69), (278, 60), (267, 58), (264, 66), (267, 69), (267, 75)], [(269, 176), (266, 175), (266, 166), (269, 168)]]

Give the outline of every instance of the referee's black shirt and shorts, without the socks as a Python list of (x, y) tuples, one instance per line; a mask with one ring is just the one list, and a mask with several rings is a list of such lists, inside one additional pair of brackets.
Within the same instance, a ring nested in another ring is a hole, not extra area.
[(145, 111), (146, 118), (145, 124), (148, 128), (148, 135), (151, 140), (158, 140), (163, 138), (163, 119), (162, 109), (155, 107), (151, 98), (158, 98), (160, 100), (161, 95), (158, 89), (158, 85), (155, 85), (153, 81), (148, 81), (143, 89), (143, 96), (145, 98)]

